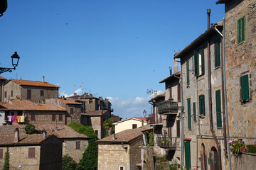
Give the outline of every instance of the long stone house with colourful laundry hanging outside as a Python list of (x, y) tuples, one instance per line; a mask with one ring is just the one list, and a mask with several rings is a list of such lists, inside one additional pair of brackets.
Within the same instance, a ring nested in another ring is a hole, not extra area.
[(57, 123), (67, 125), (72, 121), (71, 115), (63, 107), (45, 103), (36, 104), (27, 100), (11, 100), (9, 103), (0, 103), (0, 111), (4, 112), (6, 124)]

